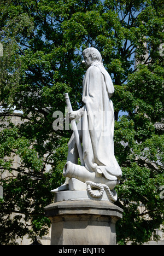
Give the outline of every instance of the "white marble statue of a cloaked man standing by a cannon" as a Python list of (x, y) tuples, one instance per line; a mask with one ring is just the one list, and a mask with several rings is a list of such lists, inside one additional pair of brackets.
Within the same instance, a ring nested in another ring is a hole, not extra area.
[(83, 80), (84, 107), (70, 114), (80, 119), (78, 132), (83, 144), (83, 165), (78, 165), (78, 150), (74, 133), (68, 143), (68, 157), (63, 176), (66, 182), (54, 191), (68, 189), (70, 178), (81, 182), (105, 184), (113, 189), (121, 178), (121, 169), (114, 156), (114, 109), (110, 100), (114, 86), (95, 48), (83, 51), (87, 71)]

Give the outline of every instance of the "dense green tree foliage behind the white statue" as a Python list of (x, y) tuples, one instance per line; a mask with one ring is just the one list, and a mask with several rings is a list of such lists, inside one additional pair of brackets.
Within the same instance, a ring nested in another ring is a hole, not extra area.
[[(43, 236), (50, 225), (43, 207), (52, 202), (50, 190), (63, 182), (71, 136), (71, 131), (52, 129), (52, 114), (65, 113), (65, 92), (73, 109), (82, 106), (81, 52), (88, 46), (101, 52), (115, 86), (115, 155), (123, 173), (117, 204), (124, 209), (118, 243), (142, 244), (160, 227), (164, 143), (154, 124), (163, 118), (162, 4), (1, 0), (1, 244), (14, 244), (25, 234)], [(120, 110), (127, 115), (119, 117)], [(11, 117), (16, 115), (21, 121), (14, 125)], [(21, 159), (17, 170), (14, 155)]]

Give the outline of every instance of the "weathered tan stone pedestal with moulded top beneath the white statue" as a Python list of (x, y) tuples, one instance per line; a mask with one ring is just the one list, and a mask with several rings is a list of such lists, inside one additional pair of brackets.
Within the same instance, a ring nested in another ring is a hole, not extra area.
[(52, 224), (51, 245), (116, 245), (115, 223), (122, 209), (105, 197), (92, 200), (84, 195), (87, 191), (80, 198), (77, 193), (56, 192), (56, 201), (44, 208)]

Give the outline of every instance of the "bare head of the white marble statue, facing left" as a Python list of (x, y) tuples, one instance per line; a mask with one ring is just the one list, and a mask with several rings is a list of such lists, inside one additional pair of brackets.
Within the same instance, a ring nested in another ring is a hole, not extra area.
[(101, 54), (96, 48), (93, 47), (86, 48), (83, 51), (83, 58), (83, 63), (85, 63), (86, 67), (90, 67), (95, 61), (101, 62), (101, 64), (103, 63)]

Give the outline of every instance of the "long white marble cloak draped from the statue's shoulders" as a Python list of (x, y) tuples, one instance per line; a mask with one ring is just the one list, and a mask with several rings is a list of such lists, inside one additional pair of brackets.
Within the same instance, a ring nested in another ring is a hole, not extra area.
[(114, 86), (100, 62), (93, 62), (83, 80), (83, 159), (91, 172), (99, 168), (110, 180), (121, 178), (114, 156)]

